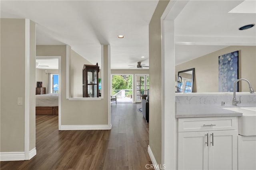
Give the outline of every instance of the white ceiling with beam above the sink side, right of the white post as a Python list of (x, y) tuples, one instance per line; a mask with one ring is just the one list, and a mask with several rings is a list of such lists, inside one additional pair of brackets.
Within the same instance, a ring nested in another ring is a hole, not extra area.
[[(239, 30), (239, 27), (256, 23), (255, 0), (190, 0), (180, 3), (182, 6), (175, 4), (177, 8), (183, 8), (174, 20), (176, 65), (230, 45), (256, 45), (255, 26)], [(235, 13), (229, 13), (233, 8), (236, 8)]]

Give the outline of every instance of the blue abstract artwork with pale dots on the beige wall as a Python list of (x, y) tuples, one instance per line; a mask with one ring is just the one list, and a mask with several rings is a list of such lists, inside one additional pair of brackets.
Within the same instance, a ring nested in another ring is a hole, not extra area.
[(219, 56), (219, 92), (234, 92), (234, 81), (237, 79), (238, 51)]

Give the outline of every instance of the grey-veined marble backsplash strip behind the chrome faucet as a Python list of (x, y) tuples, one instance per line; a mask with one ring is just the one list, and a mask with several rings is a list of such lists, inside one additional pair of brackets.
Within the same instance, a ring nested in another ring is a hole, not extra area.
[[(254, 94), (236, 94), (236, 99), (239, 100), (241, 96), (241, 104), (255, 104), (256, 105), (256, 93)], [(225, 102), (226, 104), (232, 104), (233, 94), (223, 94), (223, 95), (178, 95), (175, 96), (176, 104), (221, 104)]]

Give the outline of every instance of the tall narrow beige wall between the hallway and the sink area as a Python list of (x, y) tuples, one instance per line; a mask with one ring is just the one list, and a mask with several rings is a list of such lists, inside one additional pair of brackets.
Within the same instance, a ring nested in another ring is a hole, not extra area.
[(168, 3), (168, 0), (158, 2), (149, 24), (149, 146), (158, 165), (162, 162), (162, 53), (160, 18)]

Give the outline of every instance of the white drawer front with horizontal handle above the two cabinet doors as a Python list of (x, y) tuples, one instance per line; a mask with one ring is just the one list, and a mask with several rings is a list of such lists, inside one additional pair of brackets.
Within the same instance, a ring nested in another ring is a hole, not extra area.
[(237, 117), (179, 118), (179, 132), (236, 130)]

